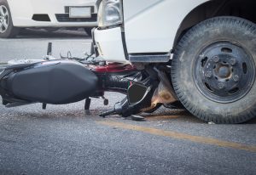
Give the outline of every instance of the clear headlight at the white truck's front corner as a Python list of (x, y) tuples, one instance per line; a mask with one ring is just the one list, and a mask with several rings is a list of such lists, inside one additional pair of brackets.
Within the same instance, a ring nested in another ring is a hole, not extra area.
[(123, 22), (121, 0), (102, 0), (98, 9), (98, 26), (121, 25)]

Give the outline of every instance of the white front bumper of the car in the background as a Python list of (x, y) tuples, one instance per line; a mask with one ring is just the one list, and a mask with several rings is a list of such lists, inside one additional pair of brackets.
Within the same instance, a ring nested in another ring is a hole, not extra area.
[[(55, 14), (65, 14), (66, 6), (94, 6), (96, 0), (8, 0), (13, 23), (17, 27), (96, 26), (94, 22), (59, 22)], [(50, 22), (32, 20), (33, 14), (49, 14)]]

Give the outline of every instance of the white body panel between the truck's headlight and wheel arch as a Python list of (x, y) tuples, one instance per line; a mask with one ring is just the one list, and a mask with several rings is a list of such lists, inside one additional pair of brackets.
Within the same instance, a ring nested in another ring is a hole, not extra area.
[(128, 53), (170, 52), (183, 19), (190, 11), (207, 1), (124, 0)]

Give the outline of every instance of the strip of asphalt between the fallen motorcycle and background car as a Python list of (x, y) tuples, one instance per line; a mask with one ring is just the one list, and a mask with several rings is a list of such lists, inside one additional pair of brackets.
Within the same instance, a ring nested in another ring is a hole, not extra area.
[(90, 52), (91, 39), (85, 31), (55, 31), (41, 30), (22, 31), (14, 39), (0, 38), (0, 61), (11, 59), (42, 59), (47, 54), (48, 42), (53, 43), (53, 56), (67, 56), (70, 51), (73, 56), (83, 57)]

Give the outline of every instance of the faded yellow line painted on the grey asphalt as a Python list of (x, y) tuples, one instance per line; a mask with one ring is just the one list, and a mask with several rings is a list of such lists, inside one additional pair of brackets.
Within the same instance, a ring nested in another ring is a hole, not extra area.
[(251, 151), (251, 152), (256, 152), (256, 146), (254, 146), (254, 145), (238, 144), (235, 142), (228, 142), (228, 141), (219, 140), (216, 138), (193, 136), (193, 135), (189, 135), (186, 133), (165, 131), (165, 130), (156, 129), (153, 127), (141, 127), (141, 126), (137, 126), (137, 125), (130, 125), (130, 124), (125, 124), (125, 123), (116, 122), (116, 121), (97, 121), (97, 123), (106, 125), (109, 127), (119, 127), (122, 129), (128, 129), (128, 130), (137, 131), (137, 132), (150, 133), (150, 134), (157, 135), (157, 136), (184, 139), (184, 140), (189, 140), (189, 141), (201, 143), (201, 144), (212, 144), (212, 145), (232, 148), (232, 149), (236, 149), (236, 150), (247, 150), (247, 151)]

